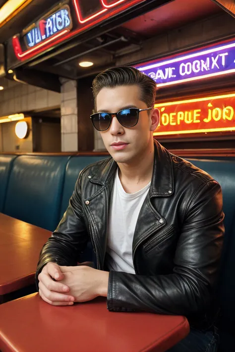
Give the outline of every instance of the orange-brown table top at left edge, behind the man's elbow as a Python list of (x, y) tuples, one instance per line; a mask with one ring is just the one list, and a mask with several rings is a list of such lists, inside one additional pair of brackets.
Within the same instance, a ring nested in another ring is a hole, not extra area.
[(51, 232), (0, 213), (0, 295), (34, 283), (39, 253)]

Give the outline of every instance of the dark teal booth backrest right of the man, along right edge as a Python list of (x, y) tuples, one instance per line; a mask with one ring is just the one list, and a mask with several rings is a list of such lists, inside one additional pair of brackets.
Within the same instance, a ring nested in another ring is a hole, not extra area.
[(219, 330), (220, 352), (235, 351), (235, 162), (222, 160), (189, 160), (208, 172), (222, 187), (225, 213), (224, 250), (218, 297), (221, 306)]

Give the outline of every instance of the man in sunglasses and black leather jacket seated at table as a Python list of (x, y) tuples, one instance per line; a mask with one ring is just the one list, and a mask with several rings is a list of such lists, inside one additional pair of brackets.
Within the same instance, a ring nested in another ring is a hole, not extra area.
[[(186, 315), (172, 352), (214, 352), (213, 297), (223, 242), (222, 194), (208, 174), (154, 141), (156, 84), (132, 67), (93, 81), (94, 127), (111, 157), (81, 171), (43, 247), (39, 294), (54, 305), (107, 297), (109, 310)], [(92, 242), (97, 269), (76, 266)]]

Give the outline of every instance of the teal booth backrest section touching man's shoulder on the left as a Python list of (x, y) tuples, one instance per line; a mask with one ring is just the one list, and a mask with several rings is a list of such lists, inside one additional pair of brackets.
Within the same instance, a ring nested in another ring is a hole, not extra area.
[(74, 191), (74, 186), (77, 181), (78, 175), (84, 167), (89, 164), (93, 164), (96, 161), (104, 159), (105, 156), (72, 156), (67, 163), (63, 195), (60, 207), (60, 218), (67, 209), (68, 202)]

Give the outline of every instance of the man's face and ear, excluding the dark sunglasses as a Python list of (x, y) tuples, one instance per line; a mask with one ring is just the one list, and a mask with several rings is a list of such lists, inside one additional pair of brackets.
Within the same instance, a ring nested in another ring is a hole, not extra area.
[[(118, 112), (124, 108), (137, 107), (146, 109), (145, 102), (139, 100), (140, 88), (137, 85), (103, 88), (96, 98), (97, 112)], [(123, 127), (113, 116), (107, 131), (100, 132), (106, 149), (116, 162), (131, 163), (138, 156), (144, 155), (152, 143), (152, 131), (159, 122), (158, 110), (141, 111), (138, 123), (131, 128)], [(123, 145), (112, 146), (123, 142)]]

